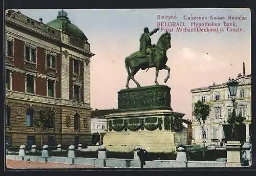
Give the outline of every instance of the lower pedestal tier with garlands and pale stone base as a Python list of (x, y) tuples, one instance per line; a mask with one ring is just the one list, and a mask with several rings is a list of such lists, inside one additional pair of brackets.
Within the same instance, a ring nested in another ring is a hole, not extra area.
[(136, 145), (148, 152), (173, 152), (187, 144), (182, 131), (183, 114), (169, 110), (116, 113), (106, 116), (108, 133), (104, 144), (109, 151), (130, 152)]

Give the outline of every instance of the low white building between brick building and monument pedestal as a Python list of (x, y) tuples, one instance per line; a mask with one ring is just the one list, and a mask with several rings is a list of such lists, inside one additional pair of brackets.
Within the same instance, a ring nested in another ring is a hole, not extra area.
[(117, 109), (95, 109), (91, 111), (92, 144), (103, 143), (103, 136), (107, 131), (106, 115), (116, 113)]

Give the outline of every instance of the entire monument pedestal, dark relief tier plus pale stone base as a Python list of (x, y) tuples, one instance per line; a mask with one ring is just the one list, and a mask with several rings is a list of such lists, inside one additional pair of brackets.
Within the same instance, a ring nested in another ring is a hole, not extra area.
[(148, 152), (173, 152), (187, 144), (184, 114), (172, 111), (165, 85), (118, 92), (118, 113), (106, 116), (104, 144), (109, 151), (130, 152), (140, 145)]

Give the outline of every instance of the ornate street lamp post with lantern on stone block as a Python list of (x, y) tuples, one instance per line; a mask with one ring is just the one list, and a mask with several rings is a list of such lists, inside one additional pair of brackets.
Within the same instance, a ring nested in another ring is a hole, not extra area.
[[(230, 97), (232, 98), (232, 106), (233, 106), (233, 113), (232, 113), (232, 118), (234, 120), (234, 118), (236, 118), (236, 108), (234, 107), (234, 102), (236, 101), (236, 95), (237, 95), (237, 89), (238, 89), (238, 81), (234, 81), (234, 79), (230, 79), (227, 82), (227, 86), (228, 86), (228, 90), (230, 93)], [(232, 122), (232, 136), (231, 136), (232, 140), (236, 140), (236, 131), (234, 128), (234, 122)]]

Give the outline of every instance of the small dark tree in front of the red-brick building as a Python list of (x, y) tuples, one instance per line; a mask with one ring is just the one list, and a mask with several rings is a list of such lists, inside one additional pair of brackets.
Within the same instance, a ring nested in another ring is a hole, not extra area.
[(50, 107), (44, 110), (40, 110), (39, 116), (35, 119), (35, 126), (41, 129), (41, 147), (44, 145), (44, 130), (53, 128), (54, 115), (54, 108)]

